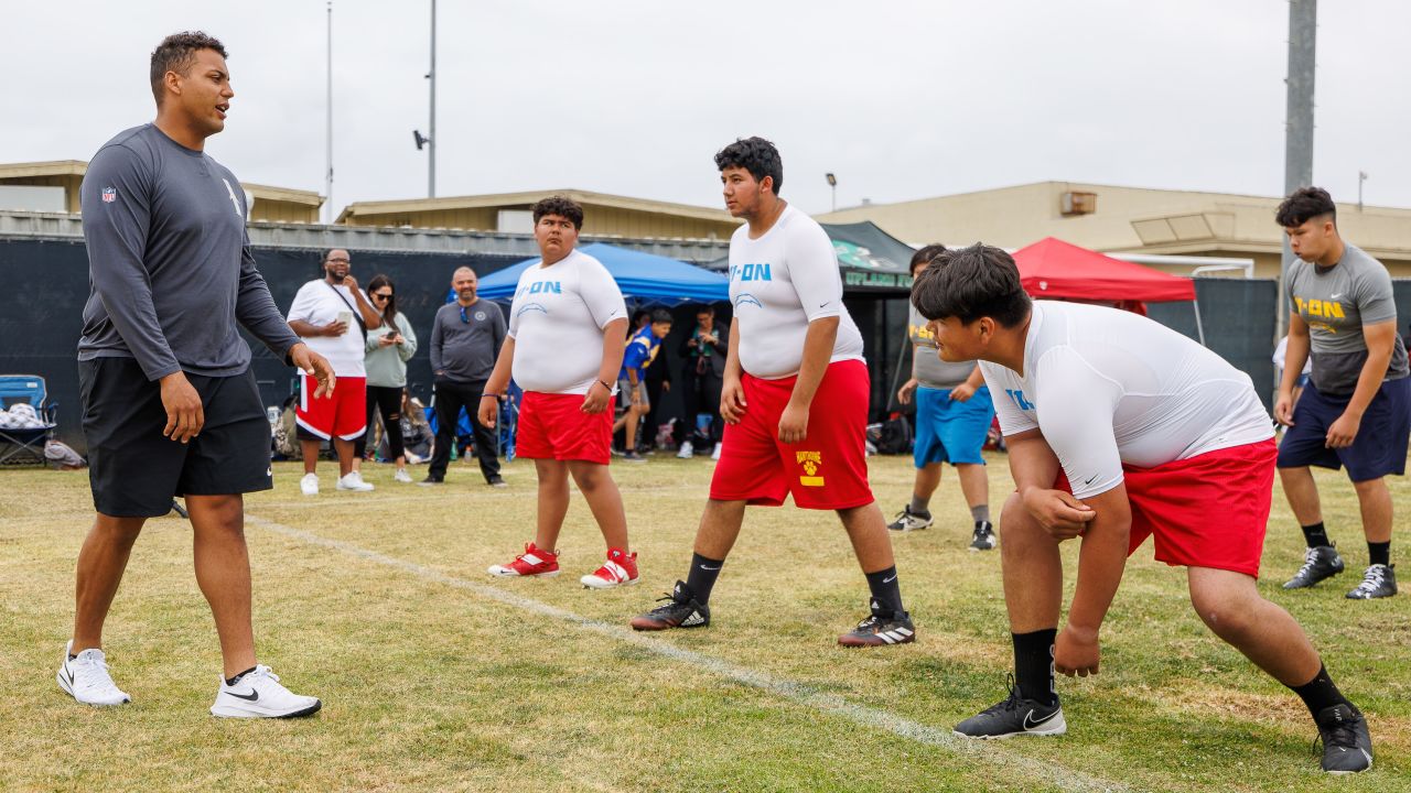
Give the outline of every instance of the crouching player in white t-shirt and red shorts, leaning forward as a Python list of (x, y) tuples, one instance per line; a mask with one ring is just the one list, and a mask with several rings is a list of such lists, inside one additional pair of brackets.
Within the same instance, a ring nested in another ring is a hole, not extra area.
[[(999, 248), (941, 254), (912, 301), (941, 358), (981, 361), (1016, 485), (999, 547), (1017, 684), (957, 734), (1067, 730), (1054, 670), (1098, 672), (1098, 628), (1127, 555), (1151, 535), (1157, 559), (1187, 567), (1201, 619), (1308, 706), (1324, 770), (1370, 768), (1362, 713), (1333, 686), (1302, 628), (1254, 587), (1276, 450), (1249, 377), (1146, 317), (1030, 302)], [(1075, 536), (1078, 586), (1058, 631), (1058, 543)]]

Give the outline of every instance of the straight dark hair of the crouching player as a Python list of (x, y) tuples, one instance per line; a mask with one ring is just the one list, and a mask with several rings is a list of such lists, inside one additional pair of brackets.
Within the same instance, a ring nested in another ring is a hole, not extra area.
[(955, 317), (965, 325), (988, 316), (1016, 327), (1029, 316), (1030, 299), (1019, 282), (1019, 267), (1005, 251), (975, 243), (944, 251), (916, 277), (912, 305), (926, 319)]

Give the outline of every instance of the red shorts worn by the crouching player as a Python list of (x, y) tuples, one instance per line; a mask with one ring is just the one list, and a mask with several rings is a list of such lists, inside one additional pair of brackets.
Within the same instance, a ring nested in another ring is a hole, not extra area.
[[(1270, 439), (1154, 468), (1122, 466), (1132, 504), (1127, 555), (1154, 536), (1157, 562), (1257, 579), (1276, 457), (1278, 449)], [(1071, 492), (1062, 473), (1054, 487)]]

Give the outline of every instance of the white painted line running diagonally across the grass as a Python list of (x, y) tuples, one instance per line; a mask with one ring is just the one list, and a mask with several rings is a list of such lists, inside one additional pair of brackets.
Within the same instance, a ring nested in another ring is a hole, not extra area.
[(947, 752), (955, 755), (964, 755), (967, 758), (985, 761), (991, 765), (999, 766), (1005, 772), (1017, 772), (1020, 776), (1024, 776), (1030, 782), (1044, 782), (1057, 786), (1061, 790), (1103, 790), (1103, 792), (1133, 790), (1127, 785), (1110, 782), (1078, 770), (1071, 770), (1050, 761), (1040, 761), (1012, 752), (993, 741), (972, 741), (967, 738), (959, 738), (945, 728), (937, 728), (928, 724), (921, 724), (919, 721), (912, 721), (909, 718), (896, 715), (882, 708), (873, 708), (873, 707), (859, 706), (856, 703), (849, 703), (847, 698), (840, 697), (837, 694), (827, 694), (823, 691), (817, 691), (801, 683), (785, 680), (773, 674), (769, 674), (766, 672), (729, 663), (727, 660), (721, 660), (718, 658), (703, 655), (694, 650), (682, 649), (660, 638), (638, 634), (631, 628), (622, 625), (610, 625), (607, 622), (600, 622), (597, 619), (588, 619), (587, 617), (580, 617), (571, 611), (559, 608), (556, 605), (549, 605), (547, 603), (540, 603), (533, 598), (516, 595), (490, 584), (483, 584), (471, 581), (468, 579), (461, 579), (457, 576), (442, 573), (440, 570), (436, 570), (433, 567), (418, 564), (415, 562), (408, 562), (405, 559), (396, 559), (394, 556), (387, 556), (375, 550), (360, 547), (350, 542), (327, 539), (316, 533), (306, 532), (303, 529), (295, 529), (292, 526), (285, 526), (282, 523), (267, 521), (264, 518), (257, 518), (254, 515), (246, 515), (246, 523), (268, 529), (274, 533), (284, 535), (286, 538), (308, 545), (327, 547), (367, 562), (382, 564), (385, 567), (394, 567), (411, 573), (419, 579), (464, 590), (476, 595), (518, 608), (521, 611), (529, 611), (533, 614), (539, 614), (542, 617), (560, 619), (563, 622), (573, 624), (584, 631), (600, 634), (617, 642), (642, 648), (645, 650), (649, 650), (663, 658), (669, 658), (672, 660), (680, 660), (689, 663), (697, 669), (704, 669), (707, 672), (711, 672), (721, 677), (727, 677), (737, 683), (742, 683), (753, 689), (769, 691), (770, 694), (776, 694), (779, 697), (811, 707), (814, 710), (828, 713), (832, 715), (841, 715), (849, 721), (862, 724), (865, 727), (885, 730), (888, 732), (892, 732), (893, 735), (900, 735), (902, 738), (906, 738), (909, 741), (916, 741), (917, 744), (924, 744), (927, 746), (945, 749)]

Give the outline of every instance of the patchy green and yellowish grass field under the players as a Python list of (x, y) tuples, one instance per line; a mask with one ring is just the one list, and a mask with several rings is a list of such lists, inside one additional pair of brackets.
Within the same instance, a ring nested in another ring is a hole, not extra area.
[[(1003, 457), (992, 502), (1007, 492)], [(1185, 577), (1139, 550), (1103, 629), (1103, 673), (1060, 680), (1068, 735), (969, 744), (950, 728), (999, 700), (1009, 634), (999, 555), (967, 550), (951, 471), (937, 526), (893, 538), (914, 645), (842, 650), (866, 586), (831, 514), (755, 509), (704, 631), (636, 635), (626, 619), (684, 573), (711, 464), (614, 466), (643, 584), (588, 591), (601, 559), (581, 498), (564, 574), (505, 581), (485, 567), (532, 536), (533, 468), (491, 490), (454, 464), (440, 488), (299, 495), (293, 464), (247, 500), (262, 662), (323, 698), (296, 721), (217, 720), (220, 658), (175, 516), (148, 523), (104, 643), (121, 708), (54, 682), (72, 624), (73, 563), (92, 501), (85, 473), (0, 471), (3, 790), (1411, 790), (1411, 593), (1353, 603), (1366, 546), (1346, 480), (1319, 476), (1349, 571), (1278, 588), (1302, 559), (1274, 494), (1260, 588), (1288, 608), (1367, 713), (1377, 761), (1326, 777), (1302, 704), (1209, 635)], [(889, 516), (909, 457), (875, 457)], [(1411, 485), (1391, 480), (1405, 557)], [(950, 518), (950, 519), (947, 519)], [(1219, 512), (1212, 509), (1211, 519)], [(1067, 543), (1070, 591), (1077, 545)], [(1355, 570), (1353, 570), (1355, 569)]]

